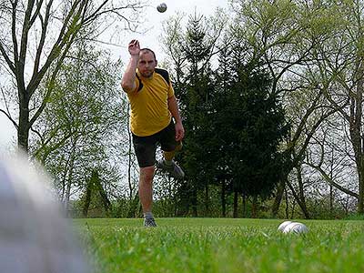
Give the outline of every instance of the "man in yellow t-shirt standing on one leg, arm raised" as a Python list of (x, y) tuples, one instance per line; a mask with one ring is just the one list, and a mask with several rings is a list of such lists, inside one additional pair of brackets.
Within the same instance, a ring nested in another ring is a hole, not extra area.
[(157, 162), (157, 167), (172, 177), (182, 179), (185, 174), (173, 158), (182, 147), (185, 129), (168, 73), (156, 67), (155, 53), (148, 48), (140, 49), (137, 40), (129, 43), (128, 51), (130, 60), (121, 86), (131, 106), (130, 127), (140, 167), (139, 198), (143, 207), (144, 225), (156, 227), (152, 214), (152, 185), (157, 144), (160, 144), (164, 155)]

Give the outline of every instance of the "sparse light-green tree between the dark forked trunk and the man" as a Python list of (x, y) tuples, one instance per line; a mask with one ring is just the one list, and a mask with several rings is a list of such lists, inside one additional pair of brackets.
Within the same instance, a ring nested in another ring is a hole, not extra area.
[[(86, 177), (97, 168), (109, 193), (119, 180), (114, 149), (125, 102), (118, 88), (120, 62), (93, 45), (77, 44), (52, 85), (44, 115), (34, 130), (32, 154), (55, 178), (61, 200), (68, 202), (86, 187)], [(119, 151), (118, 151), (119, 152)]]

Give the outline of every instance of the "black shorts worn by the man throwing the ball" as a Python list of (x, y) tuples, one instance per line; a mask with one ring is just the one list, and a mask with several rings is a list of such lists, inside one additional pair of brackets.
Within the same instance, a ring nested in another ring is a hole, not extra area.
[(176, 129), (173, 120), (163, 130), (152, 136), (133, 136), (134, 150), (139, 167), (149, 167), (156, 163), (157, 145), (165, 152), (174, 151), (179, 144), (176, 141)]

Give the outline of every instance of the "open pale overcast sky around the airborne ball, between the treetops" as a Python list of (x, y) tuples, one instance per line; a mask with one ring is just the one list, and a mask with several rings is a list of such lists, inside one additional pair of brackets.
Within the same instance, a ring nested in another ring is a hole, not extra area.
[[(167, 4), (167, 11), (163, 14), (157, 12), (157, 5), (160, 3)], [(183, 12), (187, 15), (193, 14), (195, 9), (197, 14), (213, 15), (217, 7), (227, 8), (228, 0), (149, 0), (150, 6), (147, 7), (145, 13), (146, 23), (141, 28), (148, 29), (146, 34), (123, 34), (121, 40), (125, 41), (125, 45), (109, 46), (116, 57), (121, 57), (124, 63), (128, 61), (128, 53), (126, 45), (128, 42), (136, 38), (142, 47), (149, 47), (156, 52), (158, 61), (163, 61), (163, 52), (158, 43), (158, 37), (163, 30), (162, 23), (171, 15), (177, 12)], [(121, 42), (123, 43), (123, 42)], [(2, 106), (2, 108), (4, 108)], [(0, 113), (0, 152), (7, 147), (15, 144), (15, 128), (3, 113)]]

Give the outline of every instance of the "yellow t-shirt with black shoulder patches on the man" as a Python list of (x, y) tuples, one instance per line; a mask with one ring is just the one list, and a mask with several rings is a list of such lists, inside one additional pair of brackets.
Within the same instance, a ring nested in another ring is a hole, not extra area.
[(151, 136), (167, 127), (171, 121), (168, 98), (175, 95), (168, 73), (156, 68), (145, 78), (136, 70), (136, 90), (128, 92), (130, 127), (136, 136)]

